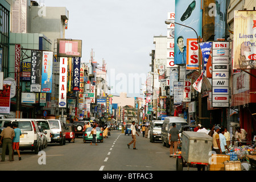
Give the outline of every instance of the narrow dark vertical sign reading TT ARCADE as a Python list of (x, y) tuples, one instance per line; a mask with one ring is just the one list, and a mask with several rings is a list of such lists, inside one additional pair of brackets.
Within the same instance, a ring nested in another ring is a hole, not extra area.
[(80, 57), (74, 57), (73, 61), (73, 91), (80, 89)]

